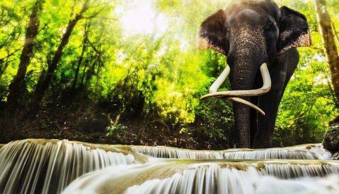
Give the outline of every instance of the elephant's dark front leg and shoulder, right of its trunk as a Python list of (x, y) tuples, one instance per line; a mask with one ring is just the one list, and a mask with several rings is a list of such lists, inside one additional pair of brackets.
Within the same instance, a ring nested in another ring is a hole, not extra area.
[(270, 66), (269, 71), (272, 79), (272, 87), (267, 94), (259, 97), (259, 107), (266, 115), (258, 115), (258, 130), (254, 138), (253, 147), (272, 147), (279, 103), (298, 62), (298, 51), (291, 49), (278, 60), (277, 64)]

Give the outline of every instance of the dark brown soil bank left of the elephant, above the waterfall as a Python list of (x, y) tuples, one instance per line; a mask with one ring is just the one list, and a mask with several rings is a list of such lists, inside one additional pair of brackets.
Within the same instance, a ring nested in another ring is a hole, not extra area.
[[(1, 122), (3, 120), (3, 118), (0, 119)], [(140, 125), (130, 119), (121, 119), (119, 123), (126, 127), (124, 133), (118, 137), (107, 136), (106, 128), (113, 123), (112, 120), (110, 114), (93, 108), (87, 110), (67, 110), (65, 107), (45, 109), (33, 118), (15, 121), (15, 123), (20, 123), (15, 126), (18, 132), (8, 135), (8, 138), (1, 140), (0, 144), (17, 139), (41, 138), (99, 144), (174, 146), (189, 149), (227, 148), (209, 141), (198, 143), (191, 135), (181, 133), (179, 129), (170, 129), (160, 120), (151, 120), (147, 125), (141, 122), (143, 124)]]

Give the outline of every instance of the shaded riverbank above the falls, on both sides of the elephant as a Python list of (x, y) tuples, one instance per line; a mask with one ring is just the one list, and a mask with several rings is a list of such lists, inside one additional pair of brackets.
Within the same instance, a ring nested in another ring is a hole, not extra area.
[[(68, 139), (98, 144), (122, 144), (140, 146), (172, 146), (188, 149), (223, 150), (234, 145), (233, 126), (214, 121), (175, 123), (159, 115), (135, 117), (119, 114), (98, 104), (87, 103), (44, 106), (34, 116), (25, 118), (21, 109), (15, 120), (15, 129), (0, 137), (0, 144), (13, 140), (42, 138)], [(119, 116), (119, 119), (117, 117)], [(0, 125), (9, 118), (0, 117)], [(117, 122), (118, 120), (118, 122)], [(118, 123), (118, 124), (116, 124)], [(4, 130), (0, 131), (3, 132)], [(284, 129), (274, 133), (274, 146), (284, 147), (307, 143), (320, 143), (322, 138), (297, 138), (293, 131)], [(303, 133), (299, 135), (302, 136)], [(293, 136), (293, 138), (289, 138)]]

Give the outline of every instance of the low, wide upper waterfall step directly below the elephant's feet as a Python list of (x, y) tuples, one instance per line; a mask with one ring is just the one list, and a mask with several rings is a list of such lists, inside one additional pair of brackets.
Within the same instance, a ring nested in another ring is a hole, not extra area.
[(332, 155), (321, 144), (303, 145), (298, 147), (268, 148), (268, 149), (228, 149), (221, 151), (189, 150), (165, 146), (131, 146), (135, 152), (154, 158), (172, 159), (303, 159), (328, 160)]

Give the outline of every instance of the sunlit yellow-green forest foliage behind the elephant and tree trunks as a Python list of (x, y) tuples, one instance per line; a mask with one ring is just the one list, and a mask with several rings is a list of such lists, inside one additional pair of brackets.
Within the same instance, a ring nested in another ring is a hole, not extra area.
[[(26, 75), (27, 97), (23, 99), (27, 104), (39, 77), (46, 75), (70, 18), (80, 11), (84, 1), (45, 0)], [(231, 102), (199, 99), (224, 68), (226, 58), (214, 51), (195, 49), (201, 21), (231, 0), (90, 2), (90, 9), (75, 26), (63, 50), (44, 106), (80, 107), (86, 100), (111, 113), (118, 122), (128, 121), (140, 127), (160, 120), (173, 133), (198, 142), (232, 146)], [(299, 49), (300, 63), (280, 104), (274, 141), (277, 146), (320, 142), (328, 121), (338, 115), (339, 105), (329, 81), (313, 1), (276, 2), (305, 14), (313, 48)], [(34, 0), (0, 0), (0, 108), (6, 103), (8, 87), (18, 67), (33, 4)], [(339, 3), (328, 0), (328, 7), (337, 27)], [(152, 16), (149, 23), (144, 22), (147, 18), (138, 19), (142, 10)], [(85, 51), (72, 90), (83, 46)], [(220, 90), (228, 89), (230, 84), (225, 83)], [(109, 137), (119, 139), (126, 127), (116, 124), (106, 130)]]

